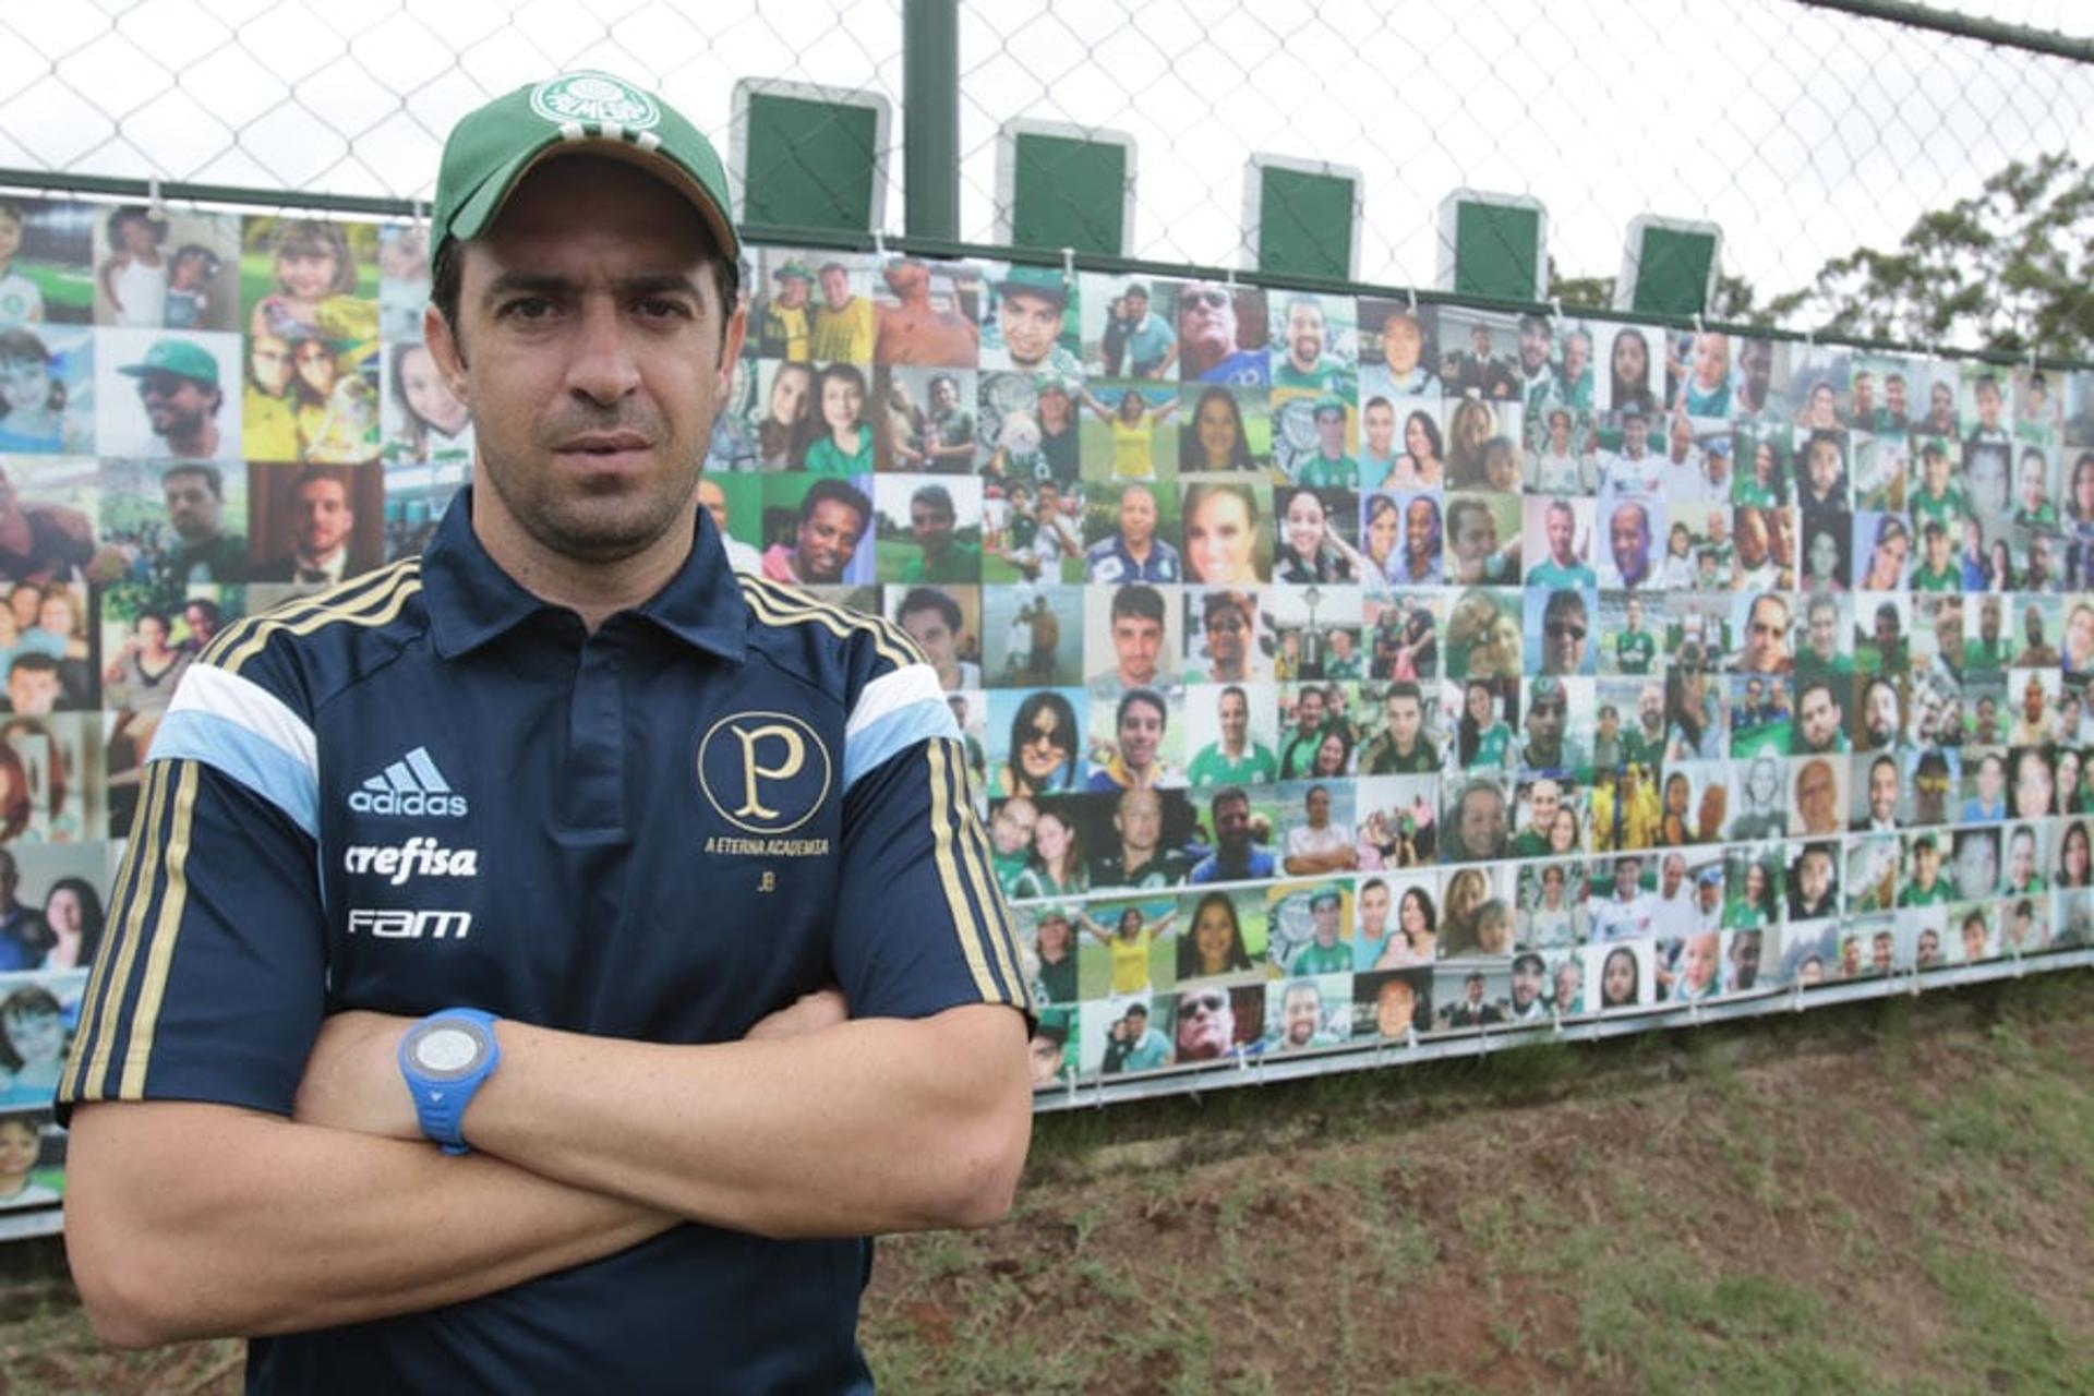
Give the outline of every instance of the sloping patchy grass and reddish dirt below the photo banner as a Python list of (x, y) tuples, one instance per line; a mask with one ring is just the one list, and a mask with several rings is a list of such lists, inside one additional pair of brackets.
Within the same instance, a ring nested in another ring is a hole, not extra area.
[(2094, 982), (1039, 1122), (896, 1392), (2094, 1390)]

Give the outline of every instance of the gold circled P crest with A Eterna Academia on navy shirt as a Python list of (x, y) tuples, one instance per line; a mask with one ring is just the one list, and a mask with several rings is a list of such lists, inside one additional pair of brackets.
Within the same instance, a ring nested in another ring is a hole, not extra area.
[(737, 712), (697, 743), (697, 789), (750, 837), (708, 835), (708, 854), (819, 858), (829, 839), (783, 837), (829, 797), (836, 768), (812, 726), (785, 712)]

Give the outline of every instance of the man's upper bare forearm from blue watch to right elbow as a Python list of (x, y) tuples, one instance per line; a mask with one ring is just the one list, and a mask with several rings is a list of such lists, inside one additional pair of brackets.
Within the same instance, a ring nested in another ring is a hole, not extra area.
[(984, 1224), (1030, 1134), (1022, 1019), (993, 1005), (716, 1046), (521, 1023), (500, 1040), (473, 1147), (760, 1235)]

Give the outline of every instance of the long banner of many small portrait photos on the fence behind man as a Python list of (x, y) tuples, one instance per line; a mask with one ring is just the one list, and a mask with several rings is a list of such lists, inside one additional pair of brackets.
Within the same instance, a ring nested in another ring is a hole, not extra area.
[[(743, 291), (699, 498), (936, 668), (1041, 1088), (2094, 944), (2094, 373), (909, 253)], [(408, 222), (0, 199), (0, 1210), (63, 1193), (197, 651), (467, 481), (425, 299)]]

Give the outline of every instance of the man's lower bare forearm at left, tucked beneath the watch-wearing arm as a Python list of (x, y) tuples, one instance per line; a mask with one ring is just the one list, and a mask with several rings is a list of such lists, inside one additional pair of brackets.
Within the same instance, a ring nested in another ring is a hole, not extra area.
[(73, 1277), (119, 1346), (456, 1304), (676, 1224), (494, 1157), (191, 1101), (82, 1105), (65, 1180)]

